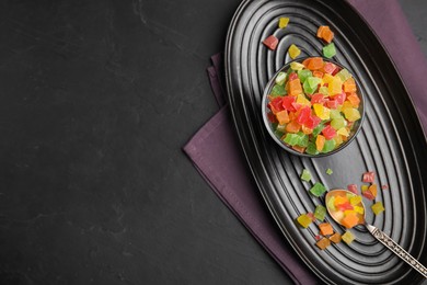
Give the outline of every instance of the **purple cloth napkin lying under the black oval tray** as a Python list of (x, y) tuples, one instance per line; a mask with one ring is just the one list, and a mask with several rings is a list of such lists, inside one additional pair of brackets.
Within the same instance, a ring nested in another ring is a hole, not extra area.
[[(425, 56), (395, 0), (348, 0), (374, 30), (393, 58), (427, 129)], [(402, 56), (405, 55), (405, 56)], [(184, 147), (221, 201), (239, 217), (296, 284), (320, 281), (296, 255), (270, 216), (251, 174), (233, 128), (221, 82), (222, 60), (212, 56), (209, 80), (220, 111)]]

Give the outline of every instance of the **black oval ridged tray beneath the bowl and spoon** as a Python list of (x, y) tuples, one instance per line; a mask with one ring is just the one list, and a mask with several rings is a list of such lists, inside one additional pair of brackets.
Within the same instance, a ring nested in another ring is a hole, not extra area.
[[(285, 30), (280, 16), (290, 18)], [(261, 114), (262, 94), (269, 78), (290, 61), (296, 44), (303, 56), (318, 56), (324, 43), (320, 25), (335, 33), (334, 59), (357, 76), (366, 94), (366, 119), (358, 137), (343, 151), (325, 158), (287, 153), (268, 136)], [(275, 34), (272, 52), (262, 42)], [(324, 282), (336, 284), (416, 284), (423, 276), (394, 256), (365, 228), (351, 229), (356, 240), (321, 251), (315, 247), (315, 225), (308, 229), (295, 220), (323, 203), (308, 193), (312, 183), (300, 180), (302, 169), (313, 183), (328, 189), (361, 185), (361, 174), (372, 170), (379, 185), (377, 201), (385, 212), (367, 220), (390, 235), (427, 265), (427, 142), (414, 105), (395, 66), (369, 25), (346, 1), (243, 1), (230, 24), (226, 46), (226, 79), (230, 106), (246, 159), (278, 226), (295, 251)], [(334, 170), (332, 175), (326, 169)], [(381, 190), (381, 185), (389, 190)], [(366, 203), (369, 207), (372, 203)], [(327, 218), (338, 232), (343, 228)]]

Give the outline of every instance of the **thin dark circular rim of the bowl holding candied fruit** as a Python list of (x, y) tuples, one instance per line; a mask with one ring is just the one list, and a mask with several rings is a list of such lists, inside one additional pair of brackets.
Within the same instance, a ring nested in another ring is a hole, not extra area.
[(342, 144), (338, 148), (330, 151), (330, 152), (325, 152), (325, 153), (319, 153), (319, 155), (310, 155), (310, 153), (305, 153), (305, 152), (299, 152), (295, 149), (292, 149), (291, 147), (288, 147), (287, 145), (285, 145), (285, 142), (282, 142), (280, 139), (277, 138), (277, 136), (273, 133), (273, 129), (272, 129), (272, 123), (268, 121), (268, 117), (267, 117), (267, 96), (269, 95), (270, 93), (270, 90), (273, 89), (273, 87), (275, 86), (275, 81), (276, 81), (276, 77), (279, 72), (282, 72), (282, 71), (287, 71), (289, 68), (290, 68), (290, 65), (292, 62), (302, 62), (303, 60), (308, 59), (308, 58), (313, 58), (313, 57), (320, 57), (322, 58), (324, 61), (327, 61), (327, 62), (332, 62), (334, 65), (337, 65), (338, 67), (341, 68), (345, 68), (347, 69), (348, 71), (350, 71), (345, 65), (343, 64), (339, 64), (337, 62), (336, 60), (333, 60), (333, 59), (330, 59), (330, 58), (325, 58), (325, 57), (322, 57), (322, 56), (308, 56), (308, 57), (301, 57), (301, 58), (296, 58), (287, 64), (285, 64), (284, 66), (281, 66), (275, 73), (274, 76), (268, 80), (267, 84), (265, 86), (264, 88), (264, 92), (263, 92), (263, 98), (262, 98), (262, 116), (263, 116), (263, 121), (264, 121), (264, 125), (269, 134), (269, 136), (276, 141), (277, 145), (279, 145), (282, 149), (287, 150), (288, 152), (292, 153), (292, 155), (296, 155), (296, 156), (299, 156), (299, 157), (308, 157), (308, 158), (322, 158), (322, 157), (327, 157), (327, 156), (332, 156), (332, 155), (335, 155), (337, 152), (339, 152), (341, 150), (345, 149), (348, 145), (350, 145), (354, 139), (356, 138), (356, 136), (359, 134), (360, 129), (362, 128), (362, 125), (363, 125), (363, 122), (365, 122), (365, 116), (366, 116), (366, 107), (365, 107), (365, 92), (362, 91), (362, 86), (360, 84), (360, 81), (358, 80), (358, 78), (356, 78), (356, 76), (354, 75), (354, 72), (351, 72), (351, 76), (353, 78), (355, 79), (356, 81), (356, 86), (358, 87), (357, 89), (357, 94), (359, 95), (360, 98), (360, 103), (361, 105), (359, 105), (358, 110), (359, 112), (361, 113), (360, 114), (360, 122), (358, 123), (358, 126), (356, 128), (356, 130), (354, 132), (353, 136), (347, 140), (345, 141), (344, 144)]

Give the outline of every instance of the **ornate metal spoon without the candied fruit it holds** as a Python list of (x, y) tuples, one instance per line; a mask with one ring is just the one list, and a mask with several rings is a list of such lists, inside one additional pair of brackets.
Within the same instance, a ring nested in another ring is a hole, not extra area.
[[(337, 215), (338, 212), (331, 209), (330, 206), (327, 205), (328, 204), (327, 202), (330, 201), (331, 197), (339, 196), (339, 195), (342, 196), (349, 195), (348, 197), (357, 196), (357, 195), (347, 190), (332, 190), (326, 194), (327, 212), (336, 223), (342, 224)], [(379, 240), (382, 244), (389, 248), (394, 254), (396, 254), (399, 258), (401, 258), (403, 261), (405, 261), (407, 264), (409, 264), (416, 271), (418, 271), (425, 278), (427, 278), (427, 269), (422, 263), (419, 263), (415, 258), (413, 258), (409, 253), (407, 253), (404, 249), (402, 249), (396, 242), (394, 242), (389, 236), (386, 236), (380, 229), (366, 223), (365, 219), (366, 210), (365, 210), (363, 202), (360, 202), (358, 206), (361, 206), (363, 208), (363, 214), (362, 215), (360, 214), (361, 216), (359, 219), (359, 225), (365, 225), (366, 228), (372, 233), (372, 236), (377, 240)]]

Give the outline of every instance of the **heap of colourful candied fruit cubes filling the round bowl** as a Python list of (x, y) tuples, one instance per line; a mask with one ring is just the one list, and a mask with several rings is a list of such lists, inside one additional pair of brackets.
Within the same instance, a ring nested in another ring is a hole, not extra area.
[(267, 86), (264, 121), (287, 150), (324, 156), (344, 148), (361, 125), (363, 104), (355, 77), (322, 57), (286, 65)]

